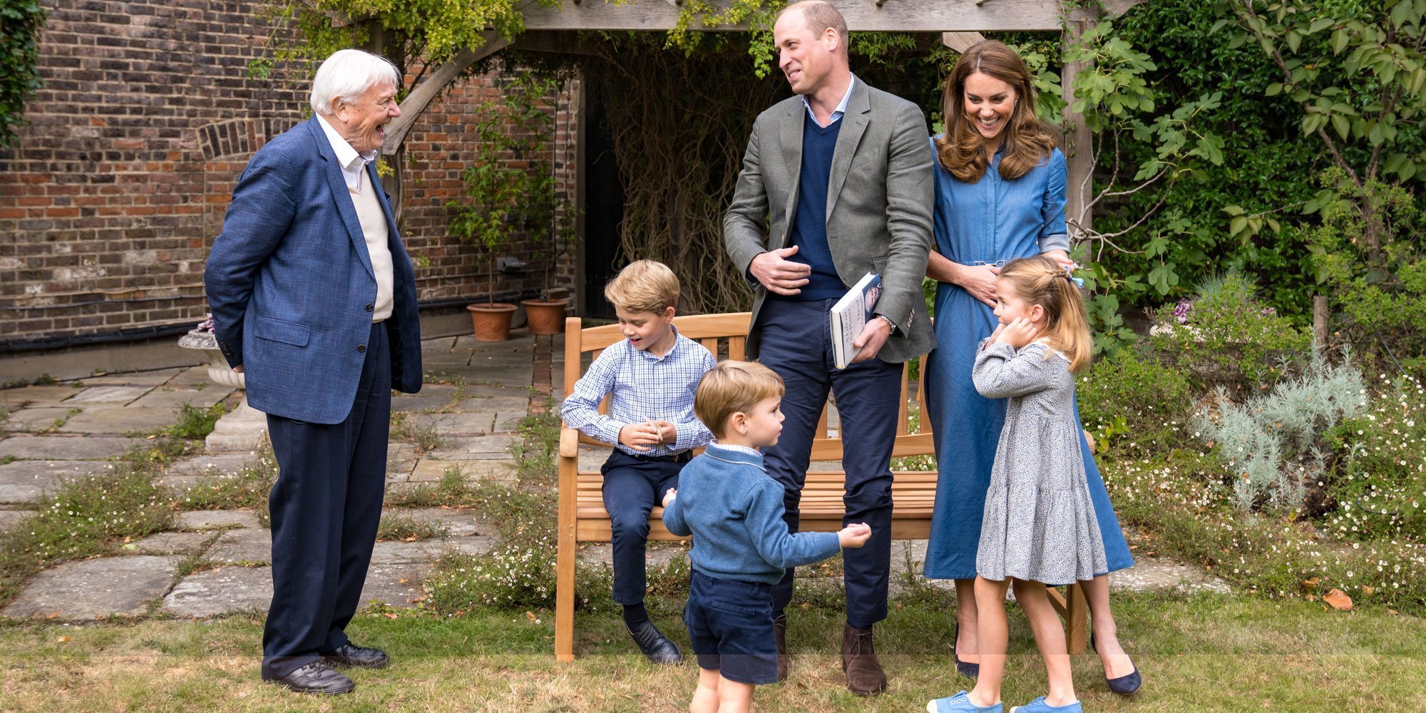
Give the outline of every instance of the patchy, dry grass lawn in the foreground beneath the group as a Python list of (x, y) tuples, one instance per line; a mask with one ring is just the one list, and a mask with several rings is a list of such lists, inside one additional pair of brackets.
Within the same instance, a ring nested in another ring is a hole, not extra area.
[[(890, 690), (861, 699), (837, 666), (841, 620), (831, 609), (791, 616), (791, 679), (760, 687), (763, 712), (915, 712), (965, 687), (948, 666), (944, 605), (908, 599), (878, 627)], [(1104, 684), (1094, 655), (1075, 657), (1087, 710), (1426, 710), (1426, 620), (1385, 609), (1329, 612), (1320, 603), (1239, 595), (1115, 595), (1121, 637), (1145, 676), (1134, 699)], [(657, 610), (672, 609), (665, 603)], [(416, 612), (359, 616), (354, 640), (395, 665), (354, 673), (338, 699), (287, 693), (258, 680), (261, 617), (214, 622), (9, 622), (0, 627), (0, 710), (483, 710), (679, 712), (697, 673), (656, 669), (633, 653), (613, 615), (579, 619), (572, 665), (552, 652), (552, 612), (485, 612), (438, 619)], [(659, 623), (680, 643), (682, 625)], [(1005, 702), (1044, 693), (1044, 670), (1011, 609)]]

